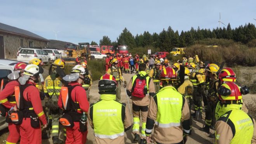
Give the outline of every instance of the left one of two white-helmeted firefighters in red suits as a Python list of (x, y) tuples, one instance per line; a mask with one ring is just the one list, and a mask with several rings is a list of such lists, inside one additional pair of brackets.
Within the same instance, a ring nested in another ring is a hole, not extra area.
[(29, 64), (24, 69), (24, 76), (19, 78), (21, 86), (15, 87), (16, 106), (19, 111), (11, 112), (11, 119), (18, 125), (21, 144), (42, 143), (39, 120), (43, 123), (43, 128), (47, 127), (40, 94), (38, 88), (35, 87), (39, 81), (39, 73), (42, 73), (42, 69), (35, 64)]

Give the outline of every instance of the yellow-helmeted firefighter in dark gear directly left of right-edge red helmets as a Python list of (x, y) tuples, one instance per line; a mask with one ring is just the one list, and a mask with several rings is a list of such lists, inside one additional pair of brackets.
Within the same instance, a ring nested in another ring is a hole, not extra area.
[[(206, 76), (209, 78), (209, 102), (207, 105), (207, 109), (205, 111), (205, 127), (200, 130), (210, 133), (210, 128), (214, 129), (214, 112), (217, 104), (217, 90), (218, 90), (218, 76), (216, 73), (219, 70), (219, 66), (217, 64), (208, 64), (206, 68)], [(213, 134), (210, 134), (209, 137), (214, 137)]]

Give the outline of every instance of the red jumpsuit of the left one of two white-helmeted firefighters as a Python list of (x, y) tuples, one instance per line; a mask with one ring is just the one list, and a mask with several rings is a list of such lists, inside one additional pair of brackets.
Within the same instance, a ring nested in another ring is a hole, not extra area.
[[(33, 110), (37, 114), (39, 120), (43, 125), (47, 124), (46, 117), (43, 111), (39, 91), (35, 87), (35, 83), (27, 82), (32, 84), (25, 88), (23, 91), (23, 97), (25, 101), (31, 102)], [(40, 124), (41, 125), (41, 124)], [(42, 130), (41, 126), (38, 128), (31, 127), (30, 118), (23, 118), (21, 125), (18, 125), (21, 135), (20, 144), (41, 144), (42, 143)]]

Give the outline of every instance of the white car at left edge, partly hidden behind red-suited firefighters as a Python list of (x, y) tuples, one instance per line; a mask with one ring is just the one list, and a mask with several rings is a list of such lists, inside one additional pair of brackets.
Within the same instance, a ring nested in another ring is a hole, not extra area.
[[(13, 72), (14, 66), (19, 61), (14, 61), (10, 59), (0, 59), (0, 87), (2, 79), (7, 79), (7, 76)], [(8, 123), (5, 122), (5, 117), (0, 115), (0, 130), (8, 127)]]

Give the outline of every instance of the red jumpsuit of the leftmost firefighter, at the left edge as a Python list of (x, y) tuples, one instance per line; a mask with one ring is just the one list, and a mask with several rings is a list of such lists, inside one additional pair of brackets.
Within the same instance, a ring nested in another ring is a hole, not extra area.
[[(11, 107), (16, 105), (16, 102), (9, 102), (7, 98), (12, 97), (12, 99), (15, 100), (14, 97), (14, 87), (19, 86), (19, 82), (14, 80), (5, 85), (5, 88), (0, 93), (0, 102), (2, 103), (5, 108), (10, 109)], [(8, 115), (7, 115), (8, 116)], [(13, 123), (8, 123), (8, 129), (9, 129), (9, 135), (6, 139), (6, 142), (10, 143), (17, 143), (19, 141), (19, 128), (17, 125), (14, 125)]]

